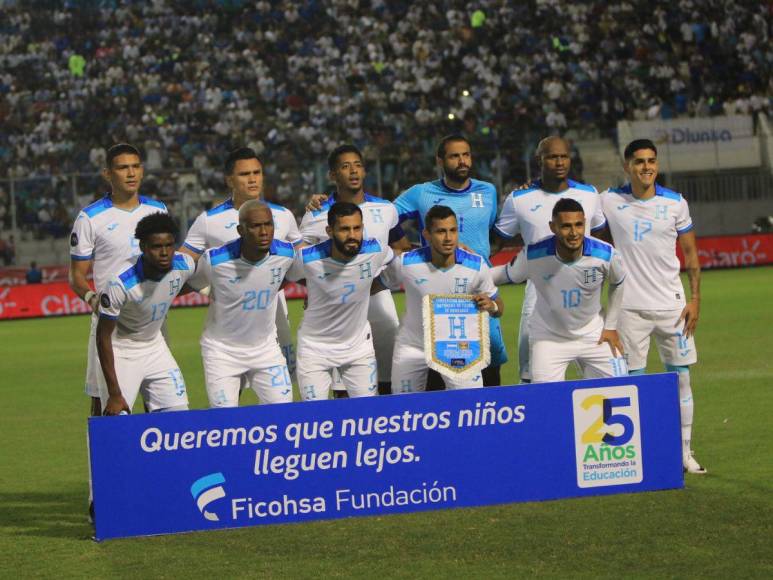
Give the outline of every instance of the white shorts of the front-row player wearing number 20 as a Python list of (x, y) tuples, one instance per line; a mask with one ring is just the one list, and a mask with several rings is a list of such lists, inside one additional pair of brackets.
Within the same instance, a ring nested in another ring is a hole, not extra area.
[(293, 401), (290, 371), (274, 340), (246, 349), (202, 338), (201, 358), (210, 407), (238, 407), (242, 388), (255, 391), (262, 404)]

